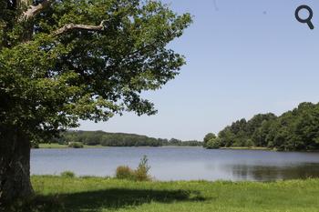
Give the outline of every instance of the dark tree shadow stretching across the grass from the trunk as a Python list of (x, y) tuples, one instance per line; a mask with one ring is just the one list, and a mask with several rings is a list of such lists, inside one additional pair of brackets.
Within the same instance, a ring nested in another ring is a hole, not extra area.
[(21, 207), (15, 207), (15, 211), (100, 212), (103, 209), (138, 207), (150, 202), (170, 204), (205, 200), (198, 191), (112, 188), (62, 194), (55, 197), (36, 197)]

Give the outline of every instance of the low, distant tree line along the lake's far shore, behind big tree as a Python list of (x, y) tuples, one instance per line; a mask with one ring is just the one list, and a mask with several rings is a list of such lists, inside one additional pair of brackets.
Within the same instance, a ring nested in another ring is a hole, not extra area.
[(181, 141), (175, 138), (163, 139), (125, 133), (107, 133), (104, 131), (66, 131), (49, 141), (68, 145), (80, 143), (88, 146), (202, 146), (200, 141)]

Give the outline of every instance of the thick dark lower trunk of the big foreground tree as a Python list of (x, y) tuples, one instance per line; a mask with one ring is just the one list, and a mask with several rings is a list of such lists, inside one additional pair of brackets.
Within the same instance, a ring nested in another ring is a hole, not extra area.
[(23, 131), (0, 126), (0, 206), (32, 193), (30, 139)]

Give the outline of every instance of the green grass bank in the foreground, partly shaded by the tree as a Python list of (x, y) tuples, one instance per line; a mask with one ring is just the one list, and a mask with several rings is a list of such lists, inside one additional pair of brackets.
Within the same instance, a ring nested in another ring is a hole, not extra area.
[[(319, 179), (256, 182), (133, 182), (32, 177), (36, 197), (18, 211), (317, 212)], [(9, 210), (7, 210), (9, 211)]]

